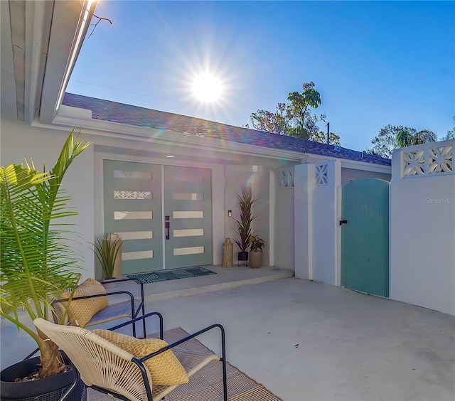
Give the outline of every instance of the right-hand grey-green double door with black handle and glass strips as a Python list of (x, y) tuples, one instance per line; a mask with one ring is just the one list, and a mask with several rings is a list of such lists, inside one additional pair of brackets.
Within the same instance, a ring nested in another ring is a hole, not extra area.
[(212, 263), (211, 174), (164, 167), (166, 269)]

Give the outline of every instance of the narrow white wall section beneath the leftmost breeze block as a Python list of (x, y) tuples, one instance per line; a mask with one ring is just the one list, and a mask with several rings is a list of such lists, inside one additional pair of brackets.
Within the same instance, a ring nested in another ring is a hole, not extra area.
[(274, 171), (274, 266), (294, 270), (294, 166)]

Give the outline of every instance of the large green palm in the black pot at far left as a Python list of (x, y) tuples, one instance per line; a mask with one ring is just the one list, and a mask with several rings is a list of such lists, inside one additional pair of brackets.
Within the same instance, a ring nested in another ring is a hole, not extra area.
[[(74, 208), (67, 205), (70, 198), (60, 189), (70, 164), (90, 145), (83, 144), (79, 137), (74, 139), (74, 131), (65, 141), (50, 171), (37, 171), (33, 162), (26, 162), (26, 166), (10, 164), (0, 167), (0, 316), (15, 324), (18, 330), (28, 333), (41, 353), (39, 358), (33, 358), (35, 363), (26, 360), (1, 371), (2, 399), (33, 397), (21, 395), (20, 391), (26, 387), (28, 390), (39, 389), (39, 383), (54, 379), (53, 376), (65, 370), (68, 363), (68, 360), (64, 363), (55, 343), (40, 331), (33, 331), (27, 323), (37, 317), (48, 319), (52, 302), (65, 289), (75, 289), (80, 279), (81, 258), (69, 241), (68, 222), (58, 226), (56, 221), (77, 215)], [(67, 311), (69, 303), (70, 300)], [(18, 312), (20, 308), (26, 311), (25, 316)], [(29, 367), (23, 368), (23, 363)], [(19, 370), (21, 378), (26, 373), (41, 380), (12, 383), (19, 386), (14, 386), (11, 390), (14, 394), (9, 395), (7, 392), (12, 385), (9, 381), (15, 369)], [(60, 388), (65, 383), (60, 375), (53, 381)]]

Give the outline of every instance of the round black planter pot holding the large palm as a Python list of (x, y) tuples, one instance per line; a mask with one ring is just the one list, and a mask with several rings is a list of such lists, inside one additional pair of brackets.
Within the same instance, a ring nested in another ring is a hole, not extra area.
[[(65, 363), (70, 364), (66, 355), (63, 356)], [(38, 370), (40, 358), (31, 358), (15, 363), (0, 372), (0, 395), (1, 401), (22, 400), (22, 401), (55, 401), (59, 400), (63, 393), (73, 384), (75, 369), (60, 373), (50, 378), (34, 380), (32, 382), (15, 383), (16, 378), (25, 378), (30, 373)], [(87, 388), (82, 380), (70, 392), (65, 401), (87, 400)]]

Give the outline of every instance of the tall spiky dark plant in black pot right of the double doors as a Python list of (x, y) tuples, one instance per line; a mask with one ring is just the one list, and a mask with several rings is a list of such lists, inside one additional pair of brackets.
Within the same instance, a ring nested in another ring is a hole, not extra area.
[(257, 199), (252, 197), (251, 188), (243, 186), (242, 193), (237, 195), (237, 201), (240, 218), (239, 220), (234, 218), (238, 232), (238, 237), (234, 241), (240, 248), (238, 260), (247, 261), (248, 247), (250, 247), (250, 237), (252, 235), (252, 223), (256, 218), (256, 216), (252, 215), (252, 208), (257, 202)]

